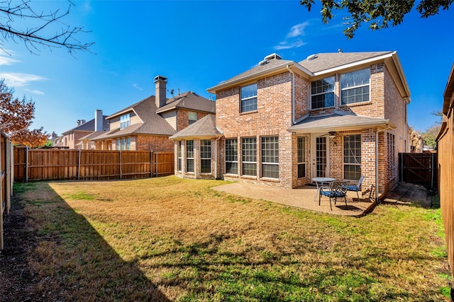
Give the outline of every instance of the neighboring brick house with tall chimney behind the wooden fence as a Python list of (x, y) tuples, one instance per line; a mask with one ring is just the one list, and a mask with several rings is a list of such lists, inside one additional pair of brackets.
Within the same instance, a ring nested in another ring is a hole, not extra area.
[(211, 100), (192, 91), (167, 99), (167, 79), (156, 76), (154, 82), (156, 95), (109, 115), (109, 131), (89, 137), (94, 149), (171, 152), (172, 134), (214, 114)]

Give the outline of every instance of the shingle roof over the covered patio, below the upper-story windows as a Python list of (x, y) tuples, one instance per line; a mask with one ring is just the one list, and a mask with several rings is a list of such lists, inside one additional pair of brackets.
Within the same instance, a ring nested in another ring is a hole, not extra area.
[(322, 132), (341, 131), (343, 129), (364, 129), (369, 127), (394, 127), (389, 120), (364, 115), (354, 115), (348, 112), (335, 111), (331, 115), (309, 116), (294, 124), (289, 132)]

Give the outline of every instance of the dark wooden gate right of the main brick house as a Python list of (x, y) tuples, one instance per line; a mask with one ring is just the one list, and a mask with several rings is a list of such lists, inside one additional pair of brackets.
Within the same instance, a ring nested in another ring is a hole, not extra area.
[(437, 184), (437, 153), (399, 153), (399, 179), (428, 188)]

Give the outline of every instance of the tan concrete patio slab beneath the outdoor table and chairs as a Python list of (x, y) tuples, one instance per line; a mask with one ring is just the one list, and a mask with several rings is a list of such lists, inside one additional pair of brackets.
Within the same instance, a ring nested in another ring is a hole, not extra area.
[(220, 192), (239, 195), (242, 197), (277, 202), (278, 204), (285, 204), (291, 207), (298, 207), (301, 209), (309, 209), (312, 211), (321, 211), (345, 216), (363, 216), (371, 211), (375, 206), (375, 202), (368, 199), (368, 194), (367, 196), (364, 196), (365, 198), (362, 198), (360, 199), (360, 201), (358, 201), (356, 192), (348, 192), (347, 207), (345, 207), (344, 199), (338, 199), (336, 205), (334, 204), (334, 201), (332, 201), (333, 210), (331, 210), (328, 197), (321, 197), (320, 206), (318, 196), (314, 201), (316, 187), (311, 185), (306, 185), (304, 187), (299, 187), (296, 189), (286, 189), (283, 187), (233, 182), (228, 185), (213, 187), (212, 189)]

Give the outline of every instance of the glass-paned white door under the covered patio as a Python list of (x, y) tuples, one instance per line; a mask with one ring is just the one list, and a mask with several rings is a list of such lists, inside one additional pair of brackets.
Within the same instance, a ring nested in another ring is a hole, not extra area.
[(329, 137), (327, 134), (312, 135), (312, 177), (328, 178), (329, 177)]

